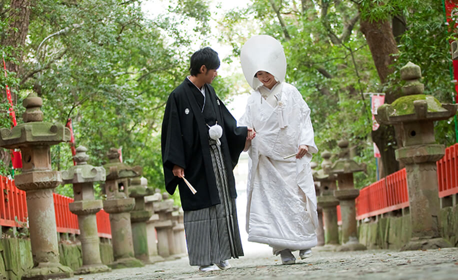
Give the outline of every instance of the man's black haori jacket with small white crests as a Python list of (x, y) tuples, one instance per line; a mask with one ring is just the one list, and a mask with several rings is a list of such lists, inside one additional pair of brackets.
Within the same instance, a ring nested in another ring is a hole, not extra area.
[[(161, 151), (165, 188), (173, 194), (178, 185), (183, 210), (197, 210), (220, 203), (213, 164), (208, 145), (208, 125), (221, 125), (221, 151), (227, 173), (229, 192), (236, 197), (232, 169), (245, 145), (246, 126), (237, 123), (216, 96), (213, 87), (205, 84), (203, 95), (187, 78), (168, 96), (162, 121)], [(184, 181), (172, 173), (173, 165), (184, 168), (184, 177), (197, 190), (189, 190)]]

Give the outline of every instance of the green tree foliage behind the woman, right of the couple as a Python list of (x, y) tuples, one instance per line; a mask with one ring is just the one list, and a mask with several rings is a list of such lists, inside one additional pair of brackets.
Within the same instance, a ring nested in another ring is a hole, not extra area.
[[(399, 39), (397, 53), (385, 57), (393, 62), (387, 68), (387, 81), (382, 83), (360, 21), (393, 18), (402, 19), (405, 26), (399, 36), (392, 34)], [(248, 23), (255, 27), (246, 27)], [(359, 186), (376, 177), (370, 100), (363, 93), (396, 94), (402, 85), (399, 69), (412, 61), (423, 70), (425, 94), (452, 102), (446, 40), (450, 33), (443, 22), (442, 6), (436, 1), (251, 0), (247, 8), (228, 12), (220, 29), (233, 46), (234, 57), (257, 33), (282, 42), (288, 61), (286, 81), (299, 89), (311, 108), (318, 148), (336, 154), (336, 140), (346, 138), (356, 158), (368, 163), (368, 174), (358, 175)], [(436, 140), (446, 145), (454, 141), (450, 122), (436, 123)], [(395, 144), (393, 138), (384, 141)]]

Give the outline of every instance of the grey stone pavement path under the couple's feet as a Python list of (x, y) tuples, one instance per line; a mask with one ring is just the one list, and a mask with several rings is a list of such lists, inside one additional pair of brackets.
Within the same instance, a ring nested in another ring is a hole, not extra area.
[[(296, 264), (281, 265), (268, 249), (232, 259), (232, 268), (199, 272), (187, 257), (140, 268), (75, 275), (71, 280), (143, 279), (458, 279), (458, 247), (418, 251), (367, 250), (331, 252), (313, 248), (313, 256)], [(294, 253), (297, 257), (297, 252)]]

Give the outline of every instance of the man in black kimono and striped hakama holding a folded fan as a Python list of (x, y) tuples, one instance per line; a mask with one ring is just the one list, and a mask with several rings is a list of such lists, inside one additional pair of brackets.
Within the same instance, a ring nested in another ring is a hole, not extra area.
[(243, 255), (232, 169), (247, 139), (254, 137), (251, 128), (237, 127), (211, 87), (218, 67), (210, 47), (194, 52), (190, 75), (168, 96), (162, 121), (165, 188), (173, 194), (178, 185), (189, 264), (201, 271), (229, 268), (227, 259)]

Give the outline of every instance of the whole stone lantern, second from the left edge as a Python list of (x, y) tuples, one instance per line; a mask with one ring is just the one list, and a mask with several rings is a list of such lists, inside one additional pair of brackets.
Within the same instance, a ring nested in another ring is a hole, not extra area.
[(76, 148), (73, 156), (76, 165), (62, 171), (62, 183), (73, 184), (74, 201), (68, 206), (78, 215), (79, 240), (82, 249), (82, 266), (75, 274), (106, 272), (111, 269), (100, 258), (97, 220), (95, 214), (102, 208), (102, 201), (95, 200), (93, 182), (105, 180), (105, 169), (87, 164), (89, 156), (83, 146)]

